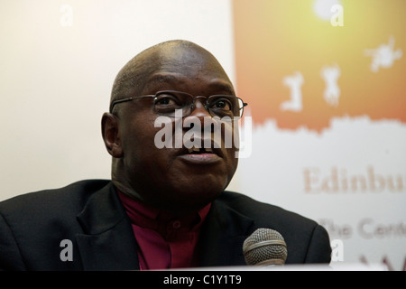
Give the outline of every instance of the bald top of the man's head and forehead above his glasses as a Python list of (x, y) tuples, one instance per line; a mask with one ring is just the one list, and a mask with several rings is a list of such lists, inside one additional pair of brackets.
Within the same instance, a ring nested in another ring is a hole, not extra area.
[(125, 64), (115, 78), (111, 101), (123, 95), (180, 90), (190, 79), (207, 89), (221, 90), (219, 94), (235, 94), (230, 79), (213, 54), (193, 42), (170, 41), (142, 51)]

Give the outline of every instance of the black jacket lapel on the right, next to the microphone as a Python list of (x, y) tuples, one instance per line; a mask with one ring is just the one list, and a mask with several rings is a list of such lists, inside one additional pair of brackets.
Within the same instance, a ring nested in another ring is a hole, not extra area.
[(254, 220), (215, 200), (201, 233), (200, 266), (245, 266), (243, 243)]

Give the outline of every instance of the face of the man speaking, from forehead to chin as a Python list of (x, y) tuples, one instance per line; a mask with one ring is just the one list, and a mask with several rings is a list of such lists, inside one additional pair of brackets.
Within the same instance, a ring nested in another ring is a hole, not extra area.
[[(178, 53), (180, 54), (178, 54)], [(181, 55), (181, 56), (179, 56)], [(155, 61), (156, 70), (149, 76), (142, 91), (127, 97), (153, 95), (161, 90), (177, 90), (193, 96), (235, 95), (235, 91), (218, 62), (207, 54), (196, 51), (161, 52)], [(204, 118), (210, 117), (203, 106), (205, 98), (197, 98), (189, 117), (198, 117), (201, 138), (204, 138)], [(189, 153), (181, 148), (157, 148), (155, 135), (161, 127), (155, 127), (157, 117), (152, 98), (134, 99), (120, 104), (119, 130), (123, 149), (124, 178), (137, 198), (162, 210), (198, 210), (226, 188), (237, 166), (235, 145), (226, 148), (225, 129), (232, 131), (235, 123), (222, 126), (220, 149), (203, 154)], [(173, 120), (175, 122), (184, 122)], [(196, 119), (196, 118), (195, 118)], [(183, 126), (182, 126), (183, 127)], [(230, 128), (231, 127), (231, 128)], [(184, 127), (184, 135), (190, 128)], [(174, 129), (173, 129), (174, 133)], [(212, 140), (213, 134), (210, 136)], [(202, 145), (204, 145), (202, 143)]]

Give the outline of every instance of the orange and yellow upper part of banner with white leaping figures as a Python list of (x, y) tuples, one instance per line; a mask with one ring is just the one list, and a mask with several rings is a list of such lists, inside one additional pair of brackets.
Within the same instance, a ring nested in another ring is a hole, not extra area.
[(254, 123), (406, 122), (406, 1), (234, 0), (236, 89)]

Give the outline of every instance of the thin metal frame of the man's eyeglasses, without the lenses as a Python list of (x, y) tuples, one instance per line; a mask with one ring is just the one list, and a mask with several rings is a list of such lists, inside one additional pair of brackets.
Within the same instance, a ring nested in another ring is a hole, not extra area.
[[(241, 100), (241, 102), (242, 102), (242, 104), (243, 104), (243, 107), (238, 108), (238, 110), (243, 110), (243, 111), (241, 112), (241, 116), (237, 117), (236, 119), (239, 119), (239, 118), (243, 117), (243, 114), (244, 114), (244, 107), (248, 106), (248, 103), (244, 102), (244, 100), (243, 100), (242, 98), (238, 98), (238, 97), (235, 97), (235, 96), (233, 96), (233, 95), (220, 95), (220, 94), (215, 94), (215, 95), (212, 95), (212, 96), (209, 96), (209, 97), (205, 97), (205, 96), (193, 96), (193, 95), (191, 95), (191, 94), (189, 94), (189, 93), (187, 93), (187, 92), (178, 91), (178, 90), (160, 90), (160, 91), (157, 91), (155, 94), (143, 95), (143, 96), (139, 96), (139, 97), (131, 97), (131, 98), (121, 98), (121, 99), (117, 99), (117, 100), (113, 101), (113, 102), (110, 104), (110, 113), (113, 113), (113, 108), (115, 107), (116, 104), (119, 104), (119, 103), (122, 103), (122, 102), (132, 101), (132, 100), (138, 99), (138, 98), (154, 98), (154, 100), (155, 100), (155, 98), (157, 98), (157, 95), (159, 95), (159, 94), (161, 94), (161, 93), (164, 93), (164, 92), (169, 92), (169, 93), (182, 93), (182, 94), (189, 95), (190, 97), (192, 97), (192, 102), (191, 102), (191, 107), (190, 107), (190, 108), (191, 108), (191, 109), (190, 109), (190, 114), (192, 113), (192, 111), (193, 111), (193, 109), (194, 109), (194, 107), (195, 107), (196, 98), (207, 98), (206, 101), (205, 101), (205, 103), (204, 103), (204, 107), (205, 107), (205, 109), (208, 111), (208, 113), (209, 113), (209, 115), (210, 115), (211, 117), (214, 117), (214, 116), (211, 115), (210, 110), (209, 110), (209, 108), (208, 108), (208, 99), (209, 99), (209, 98), (212, 98), (212, 97), (233, 97), (233, 98), (236, 98), (237, 100)], [(189, 117), (190, 114), (189, 114), (188, 116), (182, 116), (182, 117)], [(218, 117), (218, 116), (216, 116), (216, 117)], [(232, 120), (235, 120), (235, 119), (233, 118)]]

